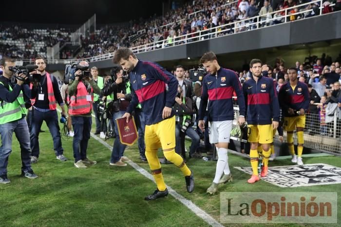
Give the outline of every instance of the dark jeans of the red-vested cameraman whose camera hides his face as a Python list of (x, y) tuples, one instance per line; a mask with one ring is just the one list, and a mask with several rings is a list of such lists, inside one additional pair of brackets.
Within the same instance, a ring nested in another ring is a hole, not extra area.
[(80, 159), (87, 158), (86, 150), (88, 149), (88, 142), (90, 139), (91, 124), (93, 123), (91, 117), (71, 117), (72, 127), (74, 128), (74, 141), (72, 148), (74, 150), (75, 162)]

